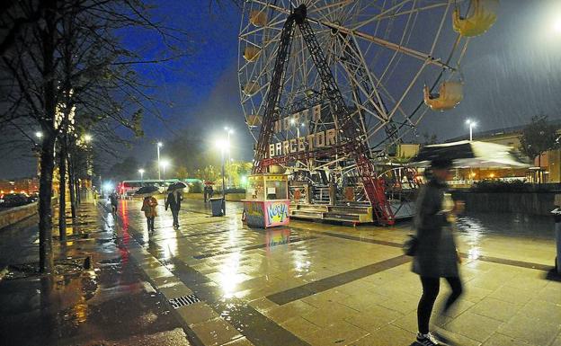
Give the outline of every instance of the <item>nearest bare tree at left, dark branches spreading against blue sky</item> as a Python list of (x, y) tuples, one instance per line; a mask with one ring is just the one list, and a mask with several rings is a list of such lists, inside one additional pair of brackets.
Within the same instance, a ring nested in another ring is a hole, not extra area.
[[(76, 145), (72, 130), (77, 126), (109, 127), (113, 133), (124, 127), (142, 135), (143, 115), (161, 115), (157, 100), (147, 93), (149, 85), (140, 82), (134, 67), (183, 57), (181, 47), (186, 40), (183, 31), (152, 22), (148, 7), (138, 0), (11, 1), (0, 13), (0, 27), (8, 28), (0, 31), (0, 125), (39, 127), (43, 134), (40, 270), (48, 272), (53, 265), (51, 198), (56, 144), (62, 138), (61, 155), (68, 155), (68, 146)], [(162, 54), (145, 59), (142, 52), (124, 46), (116, 32), (125, 28), (156, 32), (164, 47)], [(72, 129), (71, 112), (75, 112), (76, 123)], [(76, 164), (76, 160), (61, 159)], [(75, 187), (76, 167), (68, 167), (70, 186)]]

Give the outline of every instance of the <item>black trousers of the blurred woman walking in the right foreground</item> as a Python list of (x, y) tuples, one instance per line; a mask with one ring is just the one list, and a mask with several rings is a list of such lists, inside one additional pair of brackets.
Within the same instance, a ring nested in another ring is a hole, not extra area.
[[(450, 297), (446, 299), (446, 304), (442, 309), (441, 313), (448, 311), (450, 306), (452, 306), (458, 297), (462, 294), (462, 284), (459, 278), (445, 278), (452, 288), (452, 293)], [(426, 334), (429, 333), (429, 322), (431, 320), (432, 307), (438, 297), (439, 291), (441, 289), (441, 278), (428, 278), (421, 277), (421, 283), (423, 284), (423, 296), (419, 300), (419, 306), (417, 307), (417, 324), (419, 325), (419, 333)]]

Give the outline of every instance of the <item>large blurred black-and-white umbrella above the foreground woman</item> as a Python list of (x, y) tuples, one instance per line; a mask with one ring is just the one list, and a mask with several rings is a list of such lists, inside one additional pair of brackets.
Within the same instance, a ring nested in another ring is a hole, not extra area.
[(468, 140), (423, 146), (411, 164), (428, 166), (434, 160), (450, 160), (454, 167), (530, 167), (510, 146)]

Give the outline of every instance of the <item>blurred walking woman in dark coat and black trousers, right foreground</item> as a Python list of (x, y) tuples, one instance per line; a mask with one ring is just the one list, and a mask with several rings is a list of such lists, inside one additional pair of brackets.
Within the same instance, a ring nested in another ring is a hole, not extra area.
[[(418, 240), (414, 254), (413, 271), (421, 277), (423, 295), (417, 307), (417, 343), (423, 346), (440, 342), (429, 332), (432, 308), (440, 290), (440, 280), (448, 281), (452, 292), (447, 298), (441, 314), (450, 309), (462, 294), (459, 279), (459, 254), (452, 234), (455, 215), (462, 211), (463, 204), (451, 200), (446, 191), (446, 180), (450, 179), (450, 160), (432, 161), (429, 182), (420, 190), (416, 201), (414, 226)], [(438, 335), (441, 339), (441, 335)]]

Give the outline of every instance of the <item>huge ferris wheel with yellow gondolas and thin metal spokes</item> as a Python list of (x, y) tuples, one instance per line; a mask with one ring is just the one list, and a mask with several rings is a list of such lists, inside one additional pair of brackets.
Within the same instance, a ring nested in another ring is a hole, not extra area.
[[(308, 169), (344, 166), (358, 146), (327, 147), (352, 137), (348, 131), (342, 135), (347, 120), (368, 157), (384, 157), (427, 113), (461, 102), (461, 59), (470, 37), (493, 25), (497, 4), (247, 0), (238, 76), (245, 122), (257, 142), (256, 160), (315, 151), (319, 154), (274, 162)], [(289, 31), (295, 12), (300, 30)], [(334, 106), (337, 102), (343, 108)], [(352, 172), (353, 166), (345, 169)]]

